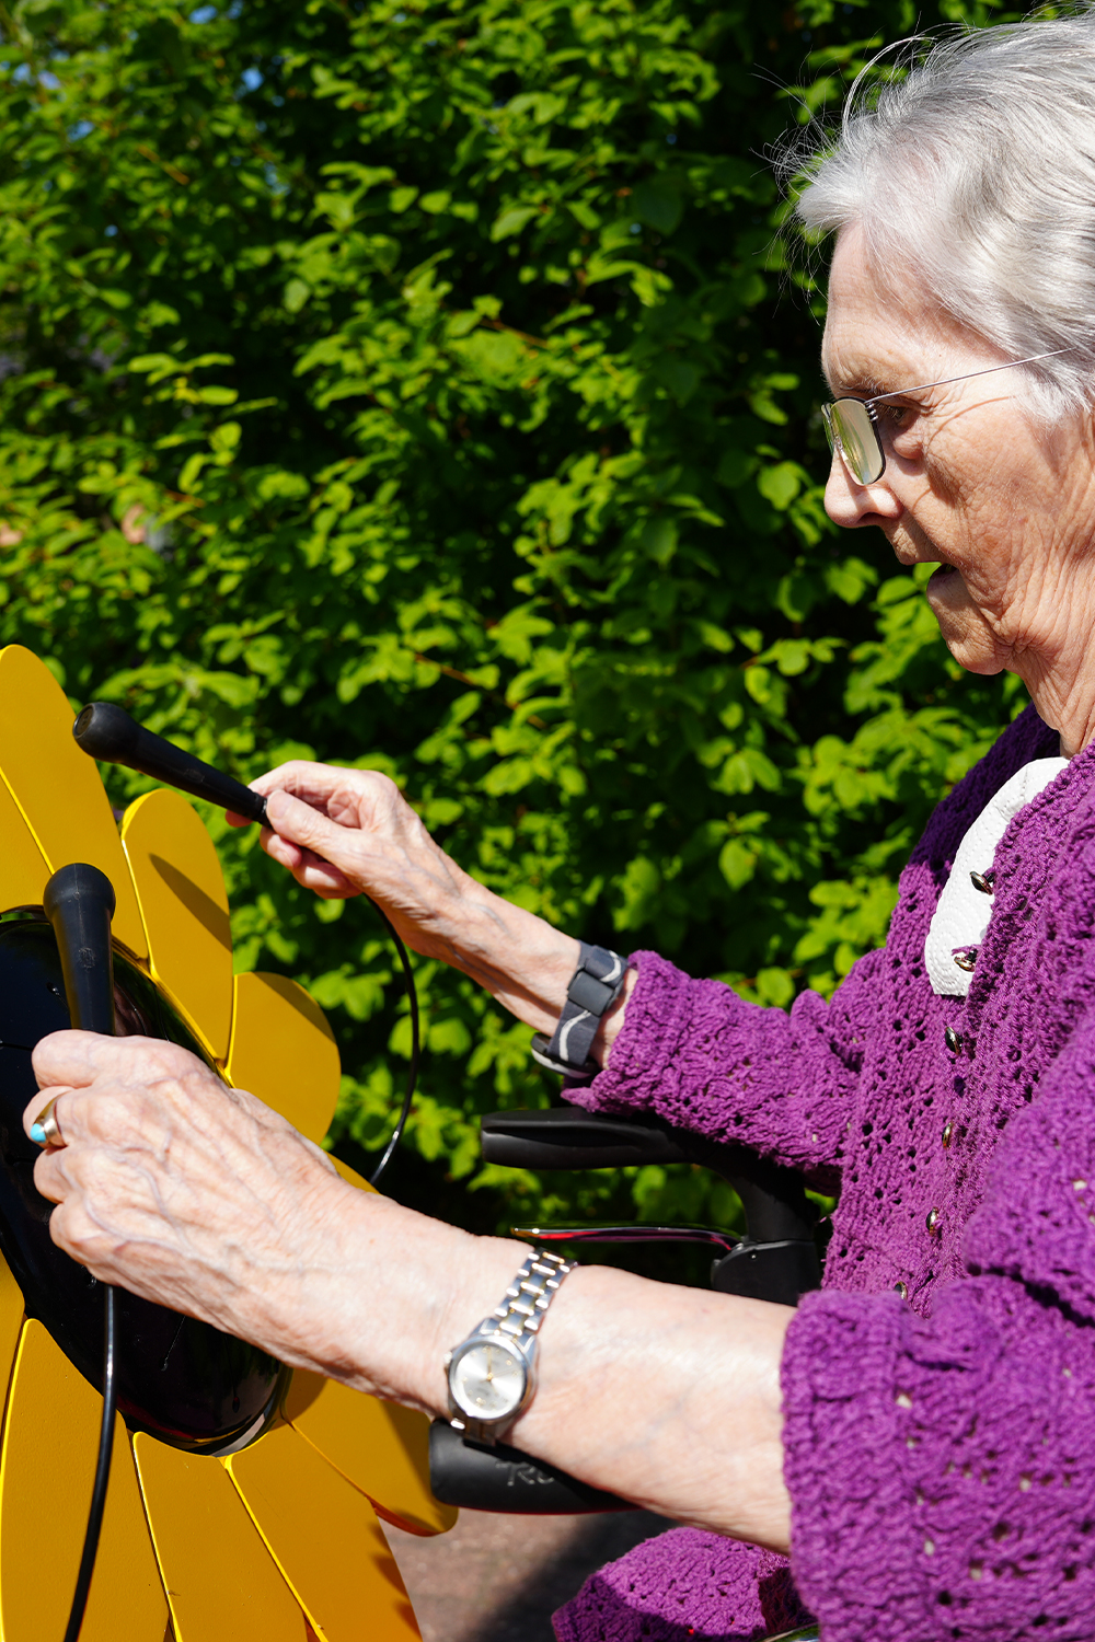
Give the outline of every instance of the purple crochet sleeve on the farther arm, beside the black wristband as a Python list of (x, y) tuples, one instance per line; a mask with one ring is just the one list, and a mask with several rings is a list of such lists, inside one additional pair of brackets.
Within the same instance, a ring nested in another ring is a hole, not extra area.
[(566, 1098), (596, 1112), (653, 1112), (832, 1182), (882, 959), (862, 957), (831, 1003), (804, 992), (786, 1015), (635, 952), (639, 982), (609, 1066)]

